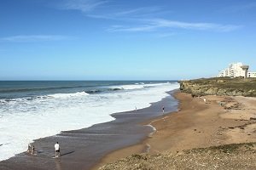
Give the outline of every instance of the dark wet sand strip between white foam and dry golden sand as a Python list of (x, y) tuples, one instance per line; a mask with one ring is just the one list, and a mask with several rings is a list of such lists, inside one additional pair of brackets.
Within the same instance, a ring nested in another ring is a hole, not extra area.
[[(177, 101), (170, 94), (148, 108), (113, 114), (116, 119), (112, 122), (37, 139), (33, 143), (36, 155), (20, 153), (9, 160), (0, 161), (0, 169), (90, 169), (113, 150), (138, 144), (147, 138), (153, 128), (141, 122), (161, 116), (163, 105), (166, 113), (177, 110)], [(61, 158), (57, 159), (54, 158), (56, 141), (61, 146)]]

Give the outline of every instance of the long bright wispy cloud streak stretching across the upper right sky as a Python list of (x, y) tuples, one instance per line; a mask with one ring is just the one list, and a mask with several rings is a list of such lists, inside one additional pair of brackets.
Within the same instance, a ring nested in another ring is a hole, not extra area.
[(220, 25), (214, 23), (192, 23), (176, 20), (144, 20), (146, 24), (140, 26), (112, 26), (108, 31), (157, 31), (164, 28), (178, 28), (186, 30), (201, 30), (201, 31), (234, 31), (242, 26), (235, 25)]

